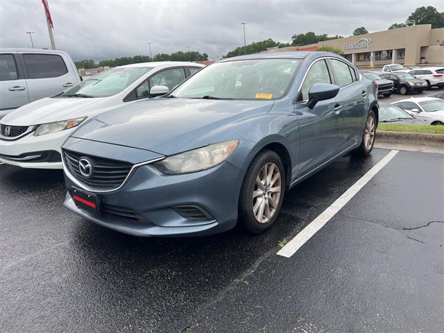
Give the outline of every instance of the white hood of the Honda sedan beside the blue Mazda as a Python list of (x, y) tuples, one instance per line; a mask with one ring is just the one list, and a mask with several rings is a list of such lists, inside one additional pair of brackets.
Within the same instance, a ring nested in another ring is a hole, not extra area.
[(89, 105), (103, 101), (105, 98), (51, 98), (39, 99), (32, 103), (23, 105), (6, 114), (1, 123), (14, 126), (31, 126), (40, 123), (51, 123), (53, 121), (66, 120), (83, 117), (87, 114), (83, 111)]

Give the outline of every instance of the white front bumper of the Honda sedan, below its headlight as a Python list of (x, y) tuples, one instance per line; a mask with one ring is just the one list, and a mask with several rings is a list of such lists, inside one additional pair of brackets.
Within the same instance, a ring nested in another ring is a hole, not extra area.
[[(31, 132), (17, 140), (0, 139), (0, 162), (32, 169), (63, 169), (60, 159), (55, 157), (44, 158), (46, 152), (52, 151), (53, 155), (61, 154), (61, 146), (74, 129), (61, 130), (60, 132), (40, 135), (35, 137)], [(38, 156), (35, 161), (27, 159), (28, 156)], [(23, 158), (25, 157), (25, 158)], [(38, 161), (38, 162), (37, 162)], [(57, 161), (57, 162), (54, 162)]]

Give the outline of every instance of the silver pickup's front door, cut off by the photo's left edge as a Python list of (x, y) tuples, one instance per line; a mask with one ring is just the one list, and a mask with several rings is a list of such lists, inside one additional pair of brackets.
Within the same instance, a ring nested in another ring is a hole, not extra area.
[(28, 89), (17, 53), (0, 54), (0, 118), (29, 103)]

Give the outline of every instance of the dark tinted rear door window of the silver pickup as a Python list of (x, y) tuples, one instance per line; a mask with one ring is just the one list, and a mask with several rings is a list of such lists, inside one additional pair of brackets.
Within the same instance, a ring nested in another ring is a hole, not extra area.
[(68, 72), (62, 57), (56, 54), (24, 54), (23, 60), (29, 78), (56, 78)]

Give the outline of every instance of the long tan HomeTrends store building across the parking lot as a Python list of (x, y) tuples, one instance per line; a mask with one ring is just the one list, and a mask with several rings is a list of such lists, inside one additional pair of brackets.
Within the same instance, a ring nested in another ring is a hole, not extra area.
[(358, 67), (436, 64), (444, 62), (444, 28), (421, 24), (268, 51), (311, 51), (321, 46), (341, 49), (344, 57)]

